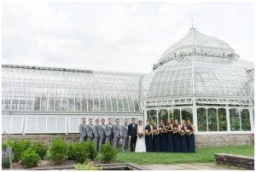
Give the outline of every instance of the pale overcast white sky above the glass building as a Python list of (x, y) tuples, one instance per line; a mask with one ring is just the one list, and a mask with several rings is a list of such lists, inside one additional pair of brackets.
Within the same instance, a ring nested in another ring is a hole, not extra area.
[(253, 3), (40, 2), (2, 4), (3, 64), (152, 71), (191, 27), (254, 61)]

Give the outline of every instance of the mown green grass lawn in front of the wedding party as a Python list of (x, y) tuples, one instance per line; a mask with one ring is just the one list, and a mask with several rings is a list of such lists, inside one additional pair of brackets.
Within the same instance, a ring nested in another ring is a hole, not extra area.
[(214, 153), (254, 156), (254, 146), (214, 146), (197, 148), (195, 153), (118, 152), (118, 163), (215, 163)]

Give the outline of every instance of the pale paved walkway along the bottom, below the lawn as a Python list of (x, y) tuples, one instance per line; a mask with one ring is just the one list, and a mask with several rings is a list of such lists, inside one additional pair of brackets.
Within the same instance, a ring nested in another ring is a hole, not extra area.
[(141, 165), (153, 170), (238, 170), (233, 166), (218, 165), (216, 163), (176, 163), (176, 164), (151, 164)]

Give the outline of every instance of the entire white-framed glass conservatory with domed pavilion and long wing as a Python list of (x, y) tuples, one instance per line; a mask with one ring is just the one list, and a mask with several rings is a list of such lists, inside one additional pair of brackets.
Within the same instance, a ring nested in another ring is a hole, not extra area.
[(254, 65), (194, 27), (148, 74), (2, 66), (2, 132), (78, 133), (81, 118), (190, 118), (196, 134), (253, 134)]

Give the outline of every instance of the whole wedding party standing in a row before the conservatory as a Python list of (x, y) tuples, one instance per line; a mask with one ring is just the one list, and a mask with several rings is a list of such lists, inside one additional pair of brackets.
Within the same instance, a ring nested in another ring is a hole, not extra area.
[(182, 120), (179, 124), (178, 120), (168, 119), (167, 123), (160, 121), (158, 126), (156, 122), (150, 124), (147, 120), (146, 125), (143, 121), (135, 123), (135, 118), (131, 118), (131, 123), (124, 120), (124, 124), (119, 124), (119, 118), (116, 118), (115, 123), (112, 123), (111, 118), (108, 118), (108, 123), (105, 119), (96, 119), (96, 123), (92, 123), (89, 118), (89, 123), (85, 123), (85, 118), (82, 118), (82, 123), (79, 125), (80, 141), (93, 140), (96, 143), (96, 151), (107, 141), (112, 146), (119, 148), (119, 141), (122, 140), (122, 151), (128, 151), (130, 141), (131, 152), (195, 152), (195, 128), (190, 119)]

